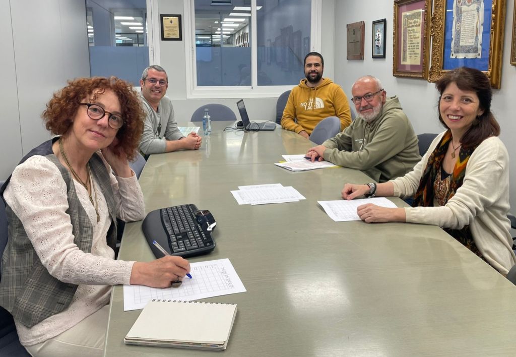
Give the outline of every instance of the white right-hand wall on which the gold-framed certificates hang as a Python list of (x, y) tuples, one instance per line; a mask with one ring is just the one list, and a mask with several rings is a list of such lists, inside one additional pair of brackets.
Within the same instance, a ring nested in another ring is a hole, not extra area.
[[(325, 3), (325, 2), (323, 2)], [(512, 37), (512, 14), (514, 2), (507, 1), (505, 39), (502, 64), (502, 86), (494, 89), (492, 111), (502, 127), (500, 135), (507, 146), (509, 157), (516, 156), (516, 141), (513, 133), (516, 132), (514, 121), (514, 98), (516, 94), (516, 67), (510, 65), (510, 50)], [(392, 75), (393, 65), (393, 1), (361, 0), (337, 1), (335, 6), (335, 64), (334, 80), (342, 85), (344, 91), (351, 96), (351, 86), (359, 76), (372, 74), (377, 76), (388, 95), (397, 95), (405, 113), (412, 121), (416, 133), (444, 130), (440, 126), (437, 114), (438, 92), (433, 83), (426, 80), (401, 79)], [(387, 19), (386, 58), (371, 58), (372, 22)], [(346, 60), (346, 24), (365, 21), (365, 58), (364, 60)], [(337, 61), (337, 60), (336, 60)], [(510, 168), (511, 185), (510, 197), (512, 210), (516, 210), (516, 163)], [(496, 185), (496, 182), (489, 183)]]

